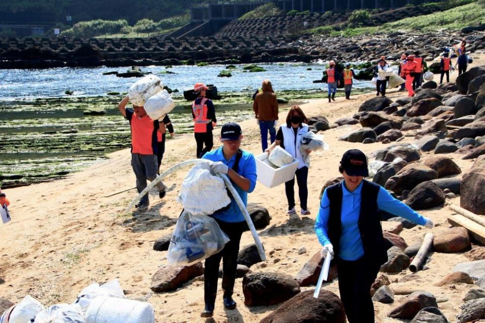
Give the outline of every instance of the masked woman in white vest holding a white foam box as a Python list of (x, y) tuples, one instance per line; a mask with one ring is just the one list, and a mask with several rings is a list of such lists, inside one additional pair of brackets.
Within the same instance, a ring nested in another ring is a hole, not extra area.
[[(300, 106), (293, 106), (292, 109), (288, 111), (288, 115), (286, 116), (286, 124), (279, 127), (278, 132), (276, 133), (276, 140), (273, 144), (266, 149), (266, 152), (271, 152), (277, 145), (280, 145), (281, 148), (286, 150), (289, 154), (294, 156), (295, 158), (300, 161), (298, 164), (298, 169), (295, 173), (297, 176), (297, 183), (298, 183), (298, 195), (300, 196), (300, 206), (301, 206), (301, 214), (303, 216), (310, 214), (310, 211), (307, 208), (307, 199), (308, 199), (308, 187), (307, 187), (307, 179), (308, 179), (308, 167), (305, 163), (305, 156), (306, 154), (300, 151), (301, 139), (304, 134), (306, 134), (309, 129), (307, 117), (303, 113)], [(306, 150), (306, 153), (310, 153), (310, 150)], [(286, 199), (288, 200), (288, 214), (296, 213), (295, 211), (295, 178), (292, 180), (284, 183)]]

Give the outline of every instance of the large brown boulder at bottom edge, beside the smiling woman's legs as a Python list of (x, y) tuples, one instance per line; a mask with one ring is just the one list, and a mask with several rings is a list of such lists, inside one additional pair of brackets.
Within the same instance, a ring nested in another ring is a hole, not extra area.
[(302, 292), (282, 303), (260, 323), (345, 323), (344, 305), (337, 295), (320, 290), (313, 298), (314, 290)]

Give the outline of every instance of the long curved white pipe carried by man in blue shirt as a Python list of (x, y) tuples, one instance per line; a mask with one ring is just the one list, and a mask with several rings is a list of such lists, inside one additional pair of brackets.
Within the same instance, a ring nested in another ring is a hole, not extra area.
[[(143, 195), (147, 194), (155, 185), (157, 185), (158, 182), (163, 180), (165, 177), (175, 173), (176, 171), (178, 171), (179, 169), (185, 166), (197, 165), (199, 163), (212, 164), (212, 161), (207, 159), (189, 159), (189, 160), (182, 161), (182, 163), (178, 163), (170, 167), (168, 170), (166, 170), (165, 172), (157, 176), (156, 179), (154, 179), (144, 190), (142, 190), (138, 194), (138, 196), (136, 196), (135, 199), (130, 203), (130, 205), (128, 205), (128, 207), (125, 209), (125, 212), (128, 213), (129, 210), (133, 208), (133, 206), (141, 199)], [(256, 232), (256, 228), (254, 227), (253, 221), (251, 220), (251, 216), (249, 215), (248, 209), (245, 207), (243, 200), (241, 200), (241, 197), (237, 193), (236, 189), (232, 185), (227, 175), (220, 174), (220, 173), (217, 175), (219, 175), (224, 180), (224, 183), (226, 184), (227, 189), (229, 190), (229, 192), (231, 192), (232, 196), (234, 197), (234, 200), (236, 201), (237, 206), (239, 206), (239, 209), (243, 213), (246, 223), (248, 224), (248, 227), (251, 231), (251, 235), (253, 236), (256, 247), (258, 248), (259, 256), (261, 257), (262, 261), (265, 261), (266, 255), (264, 254), (263, 244), (259, 239), (258, 233)]]

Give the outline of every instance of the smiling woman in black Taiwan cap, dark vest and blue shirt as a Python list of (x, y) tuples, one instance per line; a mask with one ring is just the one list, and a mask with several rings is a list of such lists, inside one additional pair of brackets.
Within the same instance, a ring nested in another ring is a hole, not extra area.
[(349, 323), (373, 323), (370, 287), (387, 261), (379, 210), (431, 229), (433, 223), (389, 194), (364, 180), (367, 157), (358, 150), (344, 153), (338, 171), (344, 180), (323, 192), (315, 222), (322, 254), (335, 256), (338, 289)]

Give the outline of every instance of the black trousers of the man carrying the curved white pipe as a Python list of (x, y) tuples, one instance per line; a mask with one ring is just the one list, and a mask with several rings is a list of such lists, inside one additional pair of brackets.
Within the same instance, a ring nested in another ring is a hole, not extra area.
[(229, 237), (224, 249), (206, 259), (204, 266), (204, 301), (214, 305), (217, 294), (217, 280), (219, 278), (219, 264), (222, 259), (222, 289), (224, 294), (232, 295), (236, 279), (237, 254), (239, 242), (243, 234), (244, 222), (224, 222), (214, 219), (221, 230)]

